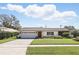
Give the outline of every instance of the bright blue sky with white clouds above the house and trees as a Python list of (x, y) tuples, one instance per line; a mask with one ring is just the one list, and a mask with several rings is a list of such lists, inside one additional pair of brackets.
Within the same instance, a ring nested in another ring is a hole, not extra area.
[(22, 27), (79, 28), (79, 4), (68, 3), (14, 3), (0, 4), (0, 14), (13, 14)]

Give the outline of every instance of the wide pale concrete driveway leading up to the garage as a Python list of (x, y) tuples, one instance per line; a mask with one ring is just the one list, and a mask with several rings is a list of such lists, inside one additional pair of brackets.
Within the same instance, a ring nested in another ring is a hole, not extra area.
[(33, 39), (17, 39), (0, 44), (0, 55), (25, 55)]

